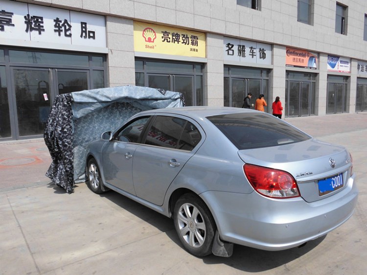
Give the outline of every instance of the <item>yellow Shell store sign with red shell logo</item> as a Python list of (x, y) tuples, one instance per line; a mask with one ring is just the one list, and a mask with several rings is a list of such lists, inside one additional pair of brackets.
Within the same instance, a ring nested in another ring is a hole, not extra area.
[(205, 33), (134, 22), (134, 50), (205, 58)]

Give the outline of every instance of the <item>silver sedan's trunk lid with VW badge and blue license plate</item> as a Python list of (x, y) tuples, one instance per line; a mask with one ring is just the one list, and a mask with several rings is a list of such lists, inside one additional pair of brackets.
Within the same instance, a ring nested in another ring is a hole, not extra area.
[(246, 163), (290, 173), (297, 181), (301, 197), (307, 202), (340, 192), (350, 177), (351, 160), (347, 150), (315, 138), (240, 150), (238, 154)]

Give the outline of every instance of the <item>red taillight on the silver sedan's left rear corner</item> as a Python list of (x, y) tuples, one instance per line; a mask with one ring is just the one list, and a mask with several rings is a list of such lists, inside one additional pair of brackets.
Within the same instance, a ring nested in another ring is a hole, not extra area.
[(243, 170), (252, 187), (263, 196), (276, 199), (300, 196), (296, 180), (285, 171), (252, 164), (243, 165)]

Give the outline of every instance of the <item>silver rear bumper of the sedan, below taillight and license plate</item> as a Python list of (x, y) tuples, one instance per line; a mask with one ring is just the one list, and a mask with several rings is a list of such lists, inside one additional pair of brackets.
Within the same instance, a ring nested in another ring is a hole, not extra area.
[(353, 214), (358, 189), (354, 177), (337, 194), (312, 203), (302, 198), (207, 191), (209, 206), (224, 241), (262, 250), (297, 247), (339, 227)]

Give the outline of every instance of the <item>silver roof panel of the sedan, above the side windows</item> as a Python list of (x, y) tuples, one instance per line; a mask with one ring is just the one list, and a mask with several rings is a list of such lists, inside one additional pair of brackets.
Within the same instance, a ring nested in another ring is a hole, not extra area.
[(257, 113), (258, 111), (235, 108), (235, 107), (214, 107), (214, 106), (188, 106), (178, 108), (164, 108), (155, 109), (139, 113), (141, 114), (152, 114), (152, 113), (163, 113), (163, 114), (178, 114), (188, 117), (207, 117), (212, 115), (224, 115), (224, 114), (235, 114), (235, 113)]

